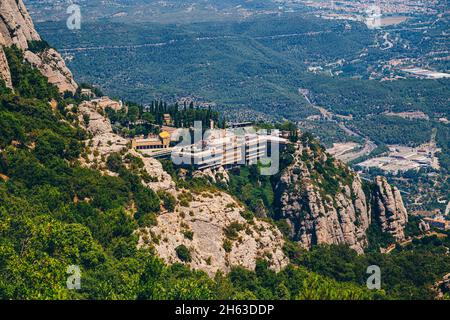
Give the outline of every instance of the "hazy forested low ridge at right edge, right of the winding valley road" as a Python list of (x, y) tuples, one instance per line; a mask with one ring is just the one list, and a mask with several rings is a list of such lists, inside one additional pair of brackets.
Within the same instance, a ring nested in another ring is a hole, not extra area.
[(420, 110), (429, 116), (448, 116), (450, 81), (402, 80), (376, 82), (341, 78), (310, 79), (315, 103), (342, 115), (357, 118), (386, 111)]

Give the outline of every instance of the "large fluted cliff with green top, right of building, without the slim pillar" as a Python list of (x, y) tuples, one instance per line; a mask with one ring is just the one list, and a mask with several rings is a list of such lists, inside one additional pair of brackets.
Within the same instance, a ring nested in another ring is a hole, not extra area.
[(333, 177), (338, 181), (338, 191), (334, 195), (327, 193), (321, 186), (324, 177), (302, 160), (302, 155), (314, 157), (311, 149), (297, 144), (294, 161), (277, 185), (281, 216), (291, 226), (291, 237), (305, 248), (316, 244), (345, 244), (363, 253), (371, 217), (361, 180), (340, 163), (332, 162), (325, 153), (319, 153), (316, 161), (328, 161), (339, 168), (348, 175), (346, 181)]

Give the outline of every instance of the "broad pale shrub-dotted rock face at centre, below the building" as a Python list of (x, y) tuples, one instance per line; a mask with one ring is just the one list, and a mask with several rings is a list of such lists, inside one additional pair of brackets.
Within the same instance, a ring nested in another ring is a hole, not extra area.
[(187, 264), (211, 277), (217, 271), (229, 272), (232, 266), (253, 270), (258, 259), (280, 271), (289, 262), (282, 250), (282, 234), (267, 222), (248, 222), (241, 216), (243, 211), (223, 192), (193, 195), (189, 205), (178, 205), (175, 212), (160, 215), (157, 226), (141, 230), (139, 245), (153, 246), (167, 263), (182, 262), (176, 249), (184, 245), (191, 255)]

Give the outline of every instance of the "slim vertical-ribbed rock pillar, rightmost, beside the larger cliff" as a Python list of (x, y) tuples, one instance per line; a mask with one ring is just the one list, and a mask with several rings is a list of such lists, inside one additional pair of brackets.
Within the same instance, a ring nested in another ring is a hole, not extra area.
[(390, 233), (397, 241), (404, 240), (408, 212), (400, 191), (396, 187), (391, 187), (384, 177), (377, 177), (375, 183), (374, 210), (382, 231)]

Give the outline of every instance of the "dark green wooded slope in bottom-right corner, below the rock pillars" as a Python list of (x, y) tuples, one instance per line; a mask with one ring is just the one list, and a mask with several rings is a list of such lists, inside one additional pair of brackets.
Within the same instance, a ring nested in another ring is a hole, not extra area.
[(450, 270), (450, 233), (447, 237), (413, 240), (390, 254), (378, 251), (357, 255), (345, 246), (320, 245), (310, 252), (288, 245), (291, 262), (337, 281), (364, 284), (367, 266), (381, 269), (382, 288), (394, 299), (434, 299), (433, 285)]

